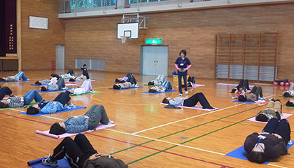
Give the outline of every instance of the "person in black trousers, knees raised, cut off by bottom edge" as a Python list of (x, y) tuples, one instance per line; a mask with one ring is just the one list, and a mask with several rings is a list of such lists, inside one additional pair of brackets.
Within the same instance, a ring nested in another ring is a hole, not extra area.
[(90, 141), (84, 134), (77, 134), (76, 137), (64, 138), (49, 155), (42, 160), (42, 164), (50, 167), (57, 167), (57, 160), (66, 157), (71, 167), (83, 168), (127, 168), (123, 160), (115, 159), (105, 153), (98, 153), (94, 150)]

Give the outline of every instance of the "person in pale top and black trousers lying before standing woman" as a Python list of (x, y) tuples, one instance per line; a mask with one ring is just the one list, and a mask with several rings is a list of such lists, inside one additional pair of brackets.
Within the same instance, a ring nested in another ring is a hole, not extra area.
[(196, 93), (188, 99), (182, 97), (175, 97), (174, 99), (171, 97), (165, 97), (165, 99), (162, 100), (162, 103), (172, 104), (174, 106), (195, 106), (198, 102), (200, 102), (202, 109), (215, 109), (210, 106), (207, 98), (202, 92)]

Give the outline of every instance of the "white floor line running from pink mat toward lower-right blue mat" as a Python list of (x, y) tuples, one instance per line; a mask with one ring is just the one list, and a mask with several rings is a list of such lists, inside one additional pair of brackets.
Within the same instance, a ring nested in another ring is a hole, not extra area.
[(172, 145), (176, 145), (176, 146), (182, 146), (182, 147), (185, 147), (185, 148), (195, 149), (197, 151), (204, 151), (204, 152), (208, 152), (208, 153), (214, 153), (214, 154), (217, 154), (217, 155), (225, 155), (223, 153), (218, 153), (218, 152), (214, 152), (214, 151), (208, 151), (208, 150), (205, 150), (205, 149), (195, 148), (195, 147), (192, 147), (192, 146), (186, 146), (186, 145), (182, 145), (182, 144), (176, 144), (176, 143), (169, 142), (169, 141), (162, 141), (160, 139), (153, 139), (153, 138), (150, 138), (150, 137), (145, 137), (145, 136), (141, 136), (141, 135), (137, 135), (137, 134), (130, 134), (130, 133), (127, 133), (127, 132), (120, 132), (118, 130), (111, 130), (111, 129), (107, 129), (107, 128), (104, 129), (104, 130), (109, 130), (109, 131), (112, 131), (112, 132), (118, 132), (120, 134), (132, 135), (134, 137), (140, 137), (140, 138), (144, 138), (144, 139), (150, 139), (150, 140), (153, 140), (153, 141), (160, 141), (160, 142), (163, 142), (163, 143), (166, 143), (166, 144), (172, 144)]

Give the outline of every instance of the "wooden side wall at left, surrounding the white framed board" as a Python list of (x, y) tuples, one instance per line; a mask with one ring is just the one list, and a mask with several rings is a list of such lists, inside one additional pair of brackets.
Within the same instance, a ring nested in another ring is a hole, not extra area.
[[(64, 44), (64, 20), (58, 0), (22, 0), (22, 69), (50, 69), (55, 45)], [(29, 15), (48, 18), (48, 30), (29, 29)]]

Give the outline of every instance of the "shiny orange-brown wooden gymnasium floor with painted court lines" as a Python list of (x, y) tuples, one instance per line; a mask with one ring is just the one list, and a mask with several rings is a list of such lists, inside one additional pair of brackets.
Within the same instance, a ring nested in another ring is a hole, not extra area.
[[(29, 79), (49, 78), (55, 71), (25, 71)], [(64, 73), (64, 71), (56, 71)], [(3, 72), (1, 76), (14, 75), (16, 72)], [(76, 72), (80, 74), (80, 71)], [(193, 109), (165, 109), (159, 103), (166, 96), (178, 97), (178, 92), (166, 94), (144, 94), (148, 91), (148, 80), (154, 76), (135, 75), (143, 88), (132, 90), (109, 90), (114, 78), (125, 73), (90, 73), (94, 90), (101, 94), (72, 97), (73, 104), (87, 106), (102, 104), (116, 127), (85, 134), (99, 153), (112, 153), (130, 167), (294, 167), (292, 155), (282, 156), (280, 162), (258, 165), (246, 160), (225, 156), (240, 146), (252, 132), (260, 132), (265, 124), (246, 121), (255, 116), (266, 105), (239, 104), (230, 99), (231, 86), (216, 85), (226, 80), (196, 80), (197, 87), (189, 90), (188, 96), (203, 92), (211, 106), (221, 107), (216, 111)], [(191, 74), (190, 74), (191, 75)], [(172, 77), (169, 80), (173, 83)], [(23, 95), (37, 89), (30, 82), (1, 83), (8, 86), (15, 95)], [(230, 81), (237, 83), (237, 81)], [(174, 83), (173, 83), (174, 84)], [(254, 83), (250, 83), (254, 85)], [(173, 85), (176, 88), (176, 85)], [(279, 99), (280, 88), (262, 85), (265, 97)], [(41, 93), (50, 100), (59, 92)], [(282, 104), (288, 99), (281, 98)], [(48, 116), (31, 117), (19, 114), (25, 109), (0, 111), (0, 167), (27, 167), (27, 161), (42, 158), (57, 146), (61, 139), (53, 139), (36, 134), (36, 130), (48, 130), (50, 125), (70, 116), (78, 116), (87, 109), (55, 113)], [(283, 113), (293, 109), (283, 107)], [(293, 127), (293, 116), (288, 118)], [(293, 154), (294, 148), (288, 150)]]

